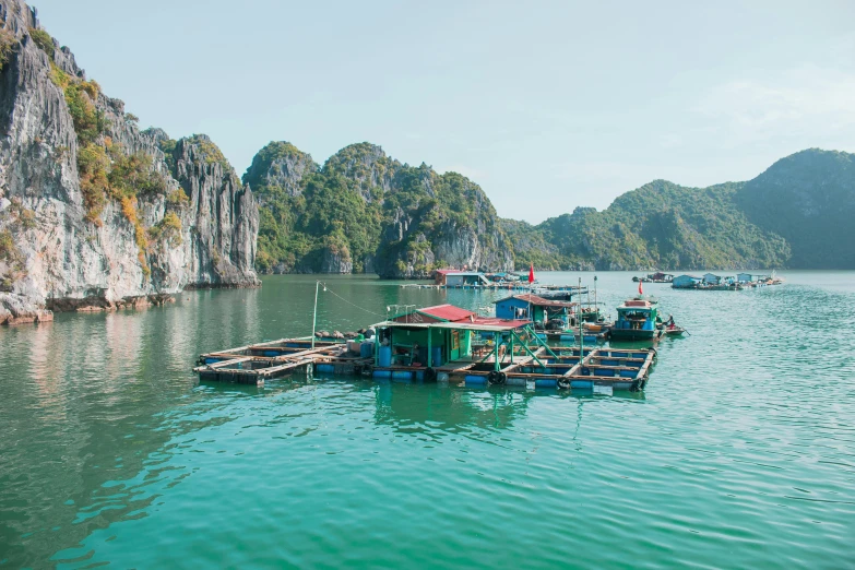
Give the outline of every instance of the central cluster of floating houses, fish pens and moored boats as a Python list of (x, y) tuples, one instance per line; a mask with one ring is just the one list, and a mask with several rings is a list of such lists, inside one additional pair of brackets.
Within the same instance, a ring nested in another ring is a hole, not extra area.
[[(437, 280), (437, 286), (503, 288), (476, 272), (443, 271)], [(396, 312), (399, 307), (387, 307), (385, 320), (359, 332), (312, 330), (310, 336), (206, 353), (194, 372), (201, 381), (257, 385), (301, 370), (380, 381), (610, 394), (643, 390), (657, 357), (653, 343), (686, 332), (673, 318), (663, 321), (658, 301), (643, 296), (641, 284), (639, 295), (617, 307), (617, 318), (609, 322), (597, 306), (596, 289), (591, 301), (581, 280), (572, 287), (536, 285), (532, 270), (525, 282), (501, 283), (510, 283), (511, 292), (494, 302), (491, 316), (449, 304), (406, 306)], [(520, 293), (521, 283), (529, 293)], [(316, 284), (316, 318), (321, 285)], [(651, 344), (619, 346), (625, 341)]]

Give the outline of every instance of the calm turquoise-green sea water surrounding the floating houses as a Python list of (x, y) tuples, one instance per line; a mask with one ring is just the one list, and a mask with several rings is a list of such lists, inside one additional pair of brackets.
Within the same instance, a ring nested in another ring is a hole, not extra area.
[[(613, 312), (630, 276), (598, 274)], [(646, 285), (691, 336), (613, 397), (197, 383), (307, 334), (312, 276), (0, 329), (0, 568), (853, 568), (855, 273), (786, 277)], [(496, 298), (325, 281), (319, 329)]]

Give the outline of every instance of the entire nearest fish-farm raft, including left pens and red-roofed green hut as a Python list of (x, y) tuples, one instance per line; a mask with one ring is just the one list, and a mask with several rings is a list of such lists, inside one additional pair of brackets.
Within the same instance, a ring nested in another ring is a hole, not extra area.
[(206, 353), (193, 369), (201, 381), (261, 385), (302, 369), (401, 382), (454, 382), (611, 393), (643, 390), (653, 348), (549, 346), (531, 321), (478, 317), (440, 305), (372, 326), (369, 341), (281, 339)]

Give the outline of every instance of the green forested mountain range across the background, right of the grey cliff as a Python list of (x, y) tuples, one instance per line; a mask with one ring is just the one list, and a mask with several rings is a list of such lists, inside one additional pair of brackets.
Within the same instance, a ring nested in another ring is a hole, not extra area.
[[(322, 168), (290, 143), (262, 149), (244, 177), (262, 203), (263, 272), (376, 271), (426, 276), (480, 269), (853, 268), (855, 162), (805, 151), (749, 182), (687, 188), (654, 180), (602, 212), (538, 225), (499, 219), (482, 189), (360, 143)], [(468, 257), (467, 257), (468, 256)]]

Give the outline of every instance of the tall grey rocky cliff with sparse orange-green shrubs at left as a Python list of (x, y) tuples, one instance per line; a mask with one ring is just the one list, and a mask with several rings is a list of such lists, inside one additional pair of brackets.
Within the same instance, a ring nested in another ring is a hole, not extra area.
[(210, 139), (140, 131), (22, 0), (0, 24), (0, 322), (257, 285), (258, 206)]

